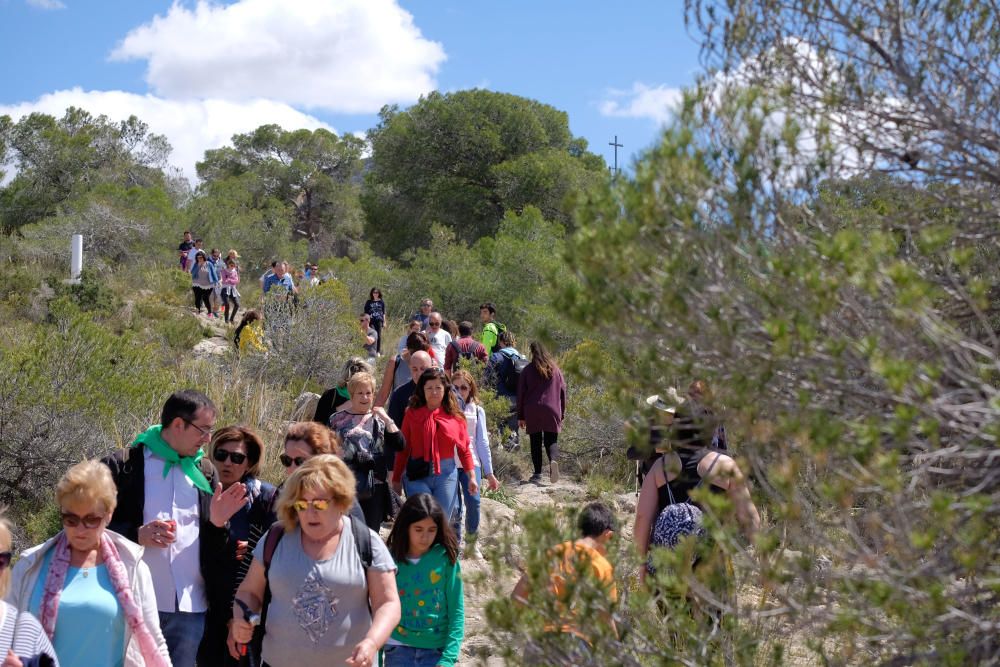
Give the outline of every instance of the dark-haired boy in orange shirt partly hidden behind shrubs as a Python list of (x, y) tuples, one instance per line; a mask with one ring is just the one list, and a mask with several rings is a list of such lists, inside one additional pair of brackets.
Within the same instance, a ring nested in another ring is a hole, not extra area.
[[(607, 596), (608, 606), (618, 600), (615, 588), (614, 567), (607, 559), (607, 544), (618, 530), (618, 519), (610, 507), (604, 503), (590, 503), (580, 512), (578, 519), (581, 537), (573, 542), (563, 542), (549, 553), (553, 564), (549, 571), (547, 593), (555, 599), (560, 624), (547, 625), (544, 644), (559, 654), (565, 651), (590, 654), (590, 642), (587, 636), (577, 627), (575, 601), (583, 598), (588, 592), (592, 595), (593, 586)], [(589, 582), (581, 581), (582, 578)], [(581, 585), (589, 583), (590, 586)], [(528, 574), (525, 573), (514, 586), (512, 597), (519, 604), (527, 605), (531, 587)], [(593, 600), (584, 600), (584, 604)], [(610, 612), (601, 614), (611, 631), (617, 635), (614, 619)], [(551, 657), (551, 656), (549, 656)], [(580, 657), (583, 657), (581, 655)], [(525, 664), (551, 664), (545, 655), (544, 646), (529, 644), (524, 655)]]

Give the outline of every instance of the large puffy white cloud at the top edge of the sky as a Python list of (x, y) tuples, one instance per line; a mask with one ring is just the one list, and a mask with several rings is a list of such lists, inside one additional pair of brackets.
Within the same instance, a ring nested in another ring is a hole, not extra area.
[(274, 99), (372, 113), (436, 87), (443, 47), (396, 0), (178, 2), (135, 28), (113, 60), (147, 60), (167, 98)]

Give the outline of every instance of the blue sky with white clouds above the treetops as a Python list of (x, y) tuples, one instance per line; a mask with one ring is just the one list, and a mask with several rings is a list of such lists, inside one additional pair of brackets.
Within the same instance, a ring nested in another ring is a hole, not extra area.
[(569, 114), (610, 163), (649, 147), (699, 71), (681, 0), (0, 0), (0, 114), (134, 113), (193, 176), (265, 122), (364, 132), (385, 103), (488, 88)]

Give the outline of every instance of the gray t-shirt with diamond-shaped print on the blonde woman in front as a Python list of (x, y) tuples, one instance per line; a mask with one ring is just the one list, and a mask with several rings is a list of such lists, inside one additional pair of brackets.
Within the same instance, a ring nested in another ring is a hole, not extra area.
[[(271, 604), (263, 648), (271, 667), (342, 665), (371, 627), (367, 577), (350, 521), (344, 517), (340, 544), (327, 560), (305, 554), (299, 528), (278, 542), (268, 572)], [(377, 533), (370, 532), (372, 568), (394, 572), (389, 549)], [(253, 553), (262, 563), (266, 542), (261, 537)]]

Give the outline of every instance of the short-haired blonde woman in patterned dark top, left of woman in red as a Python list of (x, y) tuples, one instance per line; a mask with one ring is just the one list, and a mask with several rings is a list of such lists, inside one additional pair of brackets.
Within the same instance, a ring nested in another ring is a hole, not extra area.
[(403, 448), (403, 436), (384, 408), (372, 407), (375, 378), (371, 373), (352, 375), (347, 390), (351, 401), (330, 417), (330, 429), (340, 436), (341, 458), (357, 481), (365, 523), (377, 531), (392, 518), (388, 473), (393, 457)]

